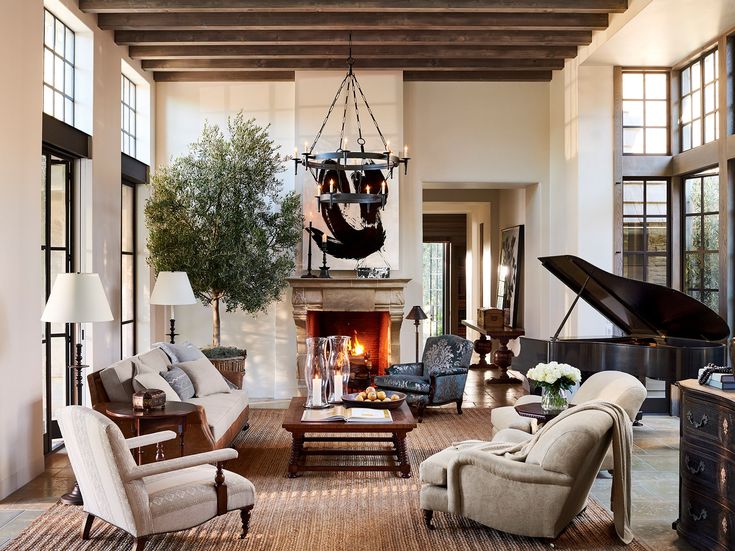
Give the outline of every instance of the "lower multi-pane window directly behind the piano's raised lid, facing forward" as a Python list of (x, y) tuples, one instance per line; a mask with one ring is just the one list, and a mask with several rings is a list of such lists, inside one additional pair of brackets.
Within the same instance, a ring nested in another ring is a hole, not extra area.
[(666, 180), (623, 181), (623, 275), (669, 284), (668, 198)]

